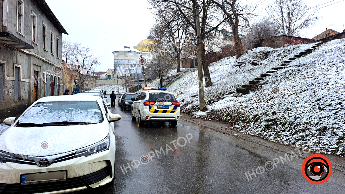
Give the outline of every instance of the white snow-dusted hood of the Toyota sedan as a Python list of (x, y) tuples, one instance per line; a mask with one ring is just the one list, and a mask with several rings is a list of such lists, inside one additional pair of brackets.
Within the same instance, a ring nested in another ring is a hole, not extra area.
[[(49, 156), (95, 144), (106, 138), (108, 122), (91, 125), (10, 127), (0, 135), (0, 150), (13, 154)], [(48, 143), (43, 149), (41, 144)]]

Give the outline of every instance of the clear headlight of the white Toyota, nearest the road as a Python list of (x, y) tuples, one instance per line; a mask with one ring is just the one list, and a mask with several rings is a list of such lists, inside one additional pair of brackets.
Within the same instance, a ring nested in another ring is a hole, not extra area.
[(77, 153), (74, 155), (73, 158), (77, 158), (80, 156), (87, 157), (87, 156), (90, 156), (92, 154), (96, 154), (96, 153), (108, 150), (109, 149), (109, 143), (110, 143), (110, 140), (109, 140), (109, 134), (108, 134), (108, 136), (105, 139), (101, 140), (100, 142), (93, 144), (93, 145), (90, 145), (86, 148), (78, 149)]

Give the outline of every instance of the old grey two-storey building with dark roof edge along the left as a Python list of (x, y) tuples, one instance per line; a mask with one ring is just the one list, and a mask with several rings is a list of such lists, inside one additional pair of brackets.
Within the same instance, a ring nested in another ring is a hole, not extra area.
[(0, 6), (0, 115), (9, 116), (39, 98), (62, 95), (61, 40), (68, 33), (45, 0), (2, 0)]

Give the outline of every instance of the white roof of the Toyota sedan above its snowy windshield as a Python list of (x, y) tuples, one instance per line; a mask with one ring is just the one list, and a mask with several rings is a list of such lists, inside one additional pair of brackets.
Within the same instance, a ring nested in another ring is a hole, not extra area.
[(47, 96), (37, 100), (37, 102), (58, 102), (58, 101), (96, 101), (99, 96), (91, 95), (66, 95), (66, 96)]

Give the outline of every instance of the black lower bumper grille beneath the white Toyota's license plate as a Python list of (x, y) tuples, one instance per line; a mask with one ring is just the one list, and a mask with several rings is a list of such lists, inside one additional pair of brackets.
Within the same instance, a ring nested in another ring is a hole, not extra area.
[(78, 188), (83, 186), (89, 186), (97, 183), (110, 175), (109, 167), (105, 167), (94, 173), (75, 177), (67, 178), (66, 181), (51, 182), (51, 183), (40, 183), (32, 185), (21, 185), (18, 184), (4, 184), (0, 183), (0, 194), (31, 194), (31, 193), (43, 193), (61, 191), (71, 188)]

